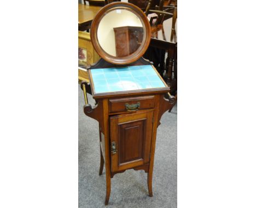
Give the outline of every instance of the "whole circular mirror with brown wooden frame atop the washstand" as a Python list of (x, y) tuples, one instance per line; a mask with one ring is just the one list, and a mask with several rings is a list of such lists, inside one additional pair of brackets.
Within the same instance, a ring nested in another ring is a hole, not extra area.
[(148, 19), (133, 4), (108, 4), (98, 11), (92, 21), (91, 42), (95, 51), (107, 62), (135, 62), (146, 52), (150, 42)]

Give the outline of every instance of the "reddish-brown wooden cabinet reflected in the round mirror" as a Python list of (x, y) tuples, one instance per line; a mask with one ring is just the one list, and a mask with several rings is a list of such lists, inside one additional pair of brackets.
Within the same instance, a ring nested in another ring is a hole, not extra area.
[(143, 28), (124, 26), (115, 27), (115, 50), (118, 57), (124, 57), (135, 52), (143, 39)]

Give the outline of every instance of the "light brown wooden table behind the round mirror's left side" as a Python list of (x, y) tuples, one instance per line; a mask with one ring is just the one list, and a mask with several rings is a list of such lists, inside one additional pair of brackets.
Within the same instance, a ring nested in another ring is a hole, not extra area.
[(91, 22), (102, 7), (78, 4), (78, 30), (89, 29)]

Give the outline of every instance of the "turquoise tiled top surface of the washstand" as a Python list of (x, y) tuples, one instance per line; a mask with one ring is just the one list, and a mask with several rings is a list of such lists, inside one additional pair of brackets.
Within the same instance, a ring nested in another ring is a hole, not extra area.
[(92, 69), (95, 94), (166, 87), (151, 65)]

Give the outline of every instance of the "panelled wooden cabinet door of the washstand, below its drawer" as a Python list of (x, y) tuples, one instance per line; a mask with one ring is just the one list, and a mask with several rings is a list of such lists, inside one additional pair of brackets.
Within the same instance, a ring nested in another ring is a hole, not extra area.
[(137, 112), (110, 117), (112, 172), (149, 163), (153, 112)]

